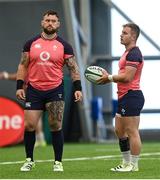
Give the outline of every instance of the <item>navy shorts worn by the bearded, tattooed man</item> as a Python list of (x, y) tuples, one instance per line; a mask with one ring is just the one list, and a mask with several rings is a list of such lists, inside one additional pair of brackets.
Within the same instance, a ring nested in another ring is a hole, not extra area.
[(24, 108), (26, 110), (45, 110), (45, 104), (53, 101), (64, 101), (63, 83), (48, 91), (37, 90), (29, 84)]

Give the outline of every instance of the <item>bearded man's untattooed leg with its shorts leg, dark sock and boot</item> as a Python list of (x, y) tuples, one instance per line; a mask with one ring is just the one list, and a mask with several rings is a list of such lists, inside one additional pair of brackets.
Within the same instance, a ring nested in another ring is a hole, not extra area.
[(35, 166), (33, 159), (33, 150), (35, 144), (35, 130), (38, 120), (44, 109), (43, 100), (40, 92), (28, 85), (26, 89), (26, 102), (24, 111), (25, 131), (24, 144), (26, 152), (26, 162), (21, 167), (21, 171), (30, 171)]

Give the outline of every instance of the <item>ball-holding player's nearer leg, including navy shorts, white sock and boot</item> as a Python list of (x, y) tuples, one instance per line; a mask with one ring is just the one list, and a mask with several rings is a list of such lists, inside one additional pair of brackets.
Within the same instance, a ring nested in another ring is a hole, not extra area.
[(139, 135), (140, 112), (144, 105), (144, 96), (140, 90), (128, 91), (123, 98), (121, 115), (123, 116), (123, 127), (129, 138), (131, 163), (120, 171), (138, 171), (138, 160), (141, 151), (141, 139)]

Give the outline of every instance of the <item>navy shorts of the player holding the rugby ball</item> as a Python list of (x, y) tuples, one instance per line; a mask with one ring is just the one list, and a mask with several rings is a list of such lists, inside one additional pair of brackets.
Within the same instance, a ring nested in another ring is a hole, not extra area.
[(121, 116), (139, 116), (144, 101), (141, 90), (129, 90), (127, 94), (118, 100), (117, 113)]

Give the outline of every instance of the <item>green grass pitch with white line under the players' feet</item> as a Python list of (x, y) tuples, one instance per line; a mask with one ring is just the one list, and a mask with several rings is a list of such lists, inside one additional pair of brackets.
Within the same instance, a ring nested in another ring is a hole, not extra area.
[(120, 163), (118, 143), (75, 143), (64, 145), (64, 172), (53, 172), (52, 146), (37, 147), (36, 167), (20, 172), (24, 161), (22, 145), (0, 148), (0, 179), (160, 179), (160, 143), (144, 142), (139, 172), (111, 172)]

